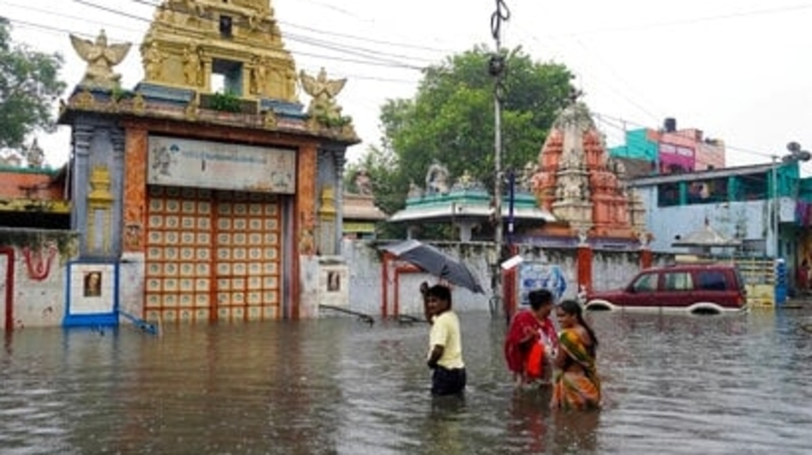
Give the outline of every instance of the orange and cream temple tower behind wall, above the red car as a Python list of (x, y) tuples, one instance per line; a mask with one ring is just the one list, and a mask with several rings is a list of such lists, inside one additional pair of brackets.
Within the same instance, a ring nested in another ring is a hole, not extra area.
[(546, 245), (645, 246), (645, 208), (624, 185), (620, 161), (608, 157), (589, 109), (575, 98), (555, 120), (538, 155), (533, 193), (556, 222), (532, 235)]

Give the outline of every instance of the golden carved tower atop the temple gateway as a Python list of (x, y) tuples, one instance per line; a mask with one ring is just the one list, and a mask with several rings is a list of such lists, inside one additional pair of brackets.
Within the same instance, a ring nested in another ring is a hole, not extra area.
[(164, 0), (140, 52), (147, 84), (298, 101), (269, 0)]

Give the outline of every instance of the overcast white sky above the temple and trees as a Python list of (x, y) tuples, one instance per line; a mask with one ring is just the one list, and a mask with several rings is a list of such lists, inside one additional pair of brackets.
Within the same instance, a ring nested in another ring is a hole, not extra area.
[[(13, 40), (63, 54), (63, 79), (71, 88), (84, 74), (84, 62), (71, 49), (68, 32), (93, 37), (105, 28), (110, 41), (135, 43), (116, 68), (132, 88), (143, 75), (137, 44), (153, 15), (149, 5), (157, 2), (0, 0), (0, 15), (11, 19)], [(621, 142), (624, 126), (656, 128), (675, 117), (679, 128), (724, 140), (728, 165), (767, 162), (786, 152), (790, 140), (812, 148), (812, 0), (505, 3), (512, 15), (503, 25), (503, 45), (522, 45), (533, 58), (564, 63), (576, 73), (609, 145)], [(349, 79), (339, 104), (364, 141), (351, 148), (351, 160), (378, 143), (379, 106), (414, 95), (421, 73), (413, 67), (476, 44), (493, 45), (495, 0), (271, 5), (298, 69), (326, 67), (331, 77)], [(316, 45), (304, 42), (313, 40)], [(359, 55), (369, 51), (373, 57)], [(40, 137), (50, 165), (67, 160), (68, 138), (67, 127)], [(812, 163), (805, 168), (812, 170)]]

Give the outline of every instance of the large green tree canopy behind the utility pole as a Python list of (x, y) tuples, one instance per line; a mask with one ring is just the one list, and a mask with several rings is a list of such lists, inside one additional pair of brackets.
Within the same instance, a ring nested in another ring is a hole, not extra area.
[[(432, 161), (453, 178), (465, 171), (492, 188), (495, 178), (494, 91), (490, 50), (476, 46), (428, 67), (412, 99), (382, 106), (381, 147), (369, 148), (348, 177), (365, 168), (376, 203), (386, 212), (404, 207), (409, 182), (422, 186)], [(535, 161), (559, 109), (572, 93), (564, 65), (535, 62), (521, 48), (505, 54), (502, 89), (502, 168)]]

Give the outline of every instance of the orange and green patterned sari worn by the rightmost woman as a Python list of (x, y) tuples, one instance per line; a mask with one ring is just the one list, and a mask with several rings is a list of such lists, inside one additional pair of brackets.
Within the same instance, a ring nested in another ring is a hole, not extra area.
[(572, 328), (559, 336), (559, 350), (568, 355), (568, 366), (555, 372), (553, 409), (584, 410), (600, 406), (601, 381), (595, 370), (595, 358)]

